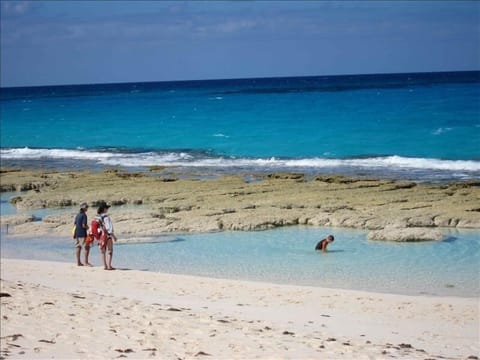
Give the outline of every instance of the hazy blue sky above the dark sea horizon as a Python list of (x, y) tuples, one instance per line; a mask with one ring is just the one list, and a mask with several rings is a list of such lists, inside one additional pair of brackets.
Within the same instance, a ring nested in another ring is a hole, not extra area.
[(0, 86), (480, 70), (480, 1), (1, 0)]

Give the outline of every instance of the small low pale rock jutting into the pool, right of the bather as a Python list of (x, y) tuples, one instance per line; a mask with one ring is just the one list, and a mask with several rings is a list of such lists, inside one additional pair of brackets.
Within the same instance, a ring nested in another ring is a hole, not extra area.
[(444, 235), (438, 229), (432, 228), (394, 228), (386, 227), (382, 230), (373, 230), (368, 233), (369, 240), (419, 242), (440, 241)]

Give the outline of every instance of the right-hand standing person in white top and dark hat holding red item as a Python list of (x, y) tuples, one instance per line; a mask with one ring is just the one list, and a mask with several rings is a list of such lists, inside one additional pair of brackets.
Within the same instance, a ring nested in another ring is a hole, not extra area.
[(100, 251), (102, 253), (103, 266), (105, 270), (115, 270), (112, 267), (113, 257), (113, 241), (117, 241), (117, 237), (113, 232), (113, 223), (110, 216), (107, 214), (110, 205), (101, 202), (98, 206), (96, 222), (99, 225), (98, 231), (93, 231), (93, 234), (98, 240)]

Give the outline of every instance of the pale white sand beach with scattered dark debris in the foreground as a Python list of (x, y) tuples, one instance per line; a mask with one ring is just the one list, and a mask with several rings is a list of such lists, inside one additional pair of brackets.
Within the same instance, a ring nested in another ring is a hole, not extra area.
[(467, 359), (479, 299), (1, 259), (1, 357)]

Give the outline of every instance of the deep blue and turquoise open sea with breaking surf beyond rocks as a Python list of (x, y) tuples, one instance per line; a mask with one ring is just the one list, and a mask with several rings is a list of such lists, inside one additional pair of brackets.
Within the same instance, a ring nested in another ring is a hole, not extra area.
[(1, 164), (480, 177), (480, 72), (1, 88)]

